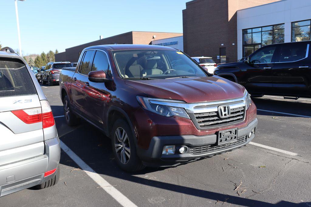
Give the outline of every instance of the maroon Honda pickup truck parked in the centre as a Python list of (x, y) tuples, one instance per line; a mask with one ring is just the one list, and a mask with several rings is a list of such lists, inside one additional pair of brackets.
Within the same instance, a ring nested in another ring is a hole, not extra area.
[(85, 119), (102, 130), (126, 171), (232, 151), (248, 144), (257, 127), (243, 86), (170, 47), (87, 47), (59, 82), (67, 124)]

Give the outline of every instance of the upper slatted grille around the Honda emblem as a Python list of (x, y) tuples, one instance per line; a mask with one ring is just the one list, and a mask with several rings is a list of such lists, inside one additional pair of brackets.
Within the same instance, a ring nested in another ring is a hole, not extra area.
[(209, 113), (201, 113), (194, 114), (199, 127), (207, 128), (210, 126), (220, 126), (225, 124), (236, 123), (244, 120), (244, 107), (239, 107), (230, 110), (230, 116), (226, 118), (220, 118), (219, 112), (209, 112)]

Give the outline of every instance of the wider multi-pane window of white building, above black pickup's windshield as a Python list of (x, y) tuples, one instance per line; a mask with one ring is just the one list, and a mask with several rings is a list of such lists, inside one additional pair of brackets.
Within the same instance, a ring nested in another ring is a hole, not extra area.
[(284, 43), (284, 24), (243, 29), (243, 56), (265, 45)]

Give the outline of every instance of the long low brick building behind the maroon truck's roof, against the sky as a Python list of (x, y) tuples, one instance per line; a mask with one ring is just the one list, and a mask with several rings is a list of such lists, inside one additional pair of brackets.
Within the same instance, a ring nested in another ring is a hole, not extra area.
[(118, 34), (112, 37), (99, 39), (90, 43), (77, 45), (67, 48), (65, 52), (55, 54), (55, 61), (70, 61), (77, 62), (82, 50), (86, 47), (94, 45), (106, 44), (151, 44), (152, 40), (178, 37), (182, 33), (167, 33), (167, 32), (137, 32), (131, 31), (123, 34)]

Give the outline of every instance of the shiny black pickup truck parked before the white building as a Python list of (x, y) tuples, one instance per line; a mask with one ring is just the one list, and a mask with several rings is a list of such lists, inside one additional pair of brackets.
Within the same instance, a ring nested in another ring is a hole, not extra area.
[(239, 62), (219, 65), (214, 74), (243, 85), (253, 97), (311, 97), (310, 45), (311, 41), (264, 46)]

